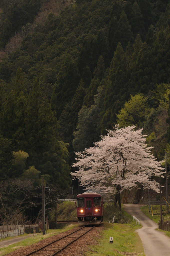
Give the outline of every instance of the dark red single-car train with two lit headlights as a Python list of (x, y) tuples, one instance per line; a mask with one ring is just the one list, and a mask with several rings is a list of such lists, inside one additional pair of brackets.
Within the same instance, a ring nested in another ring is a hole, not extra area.
[(80, 225), (103, 221), (103, 197), (92, 191), (77, 195), (77, 218)]

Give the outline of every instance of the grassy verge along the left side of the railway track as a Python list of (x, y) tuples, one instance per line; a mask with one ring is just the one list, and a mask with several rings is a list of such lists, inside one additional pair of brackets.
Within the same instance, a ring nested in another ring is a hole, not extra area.
[[(0, 248), (0, 255), (5, 255), (5, 254), (13, 252), (16, 249), (19, 249), (21, 247), (29, 246), (31, 244), (37, 243), (37, 242), (39, 242), (43, 239), (46, 239), (46, 238), (54, 236), (58, 233), (67, 231), (69, 229), (72, 229), (75, 226), (77, 226), (77, 225), (70, 224), (70, 225), (65, 225), (65, 227), (64, 227), (63, 224), (62, 224), (62, 229), (49, 229), (49, 230), (47, 230), (47, 233), (45, 235), (42, 235), (42, 233), (37, 233), (35, 236), (33, 236), (33, 234), (31, 234), (31, 236), (26, 234), (26, 236), (28, 236), (28, 238), (24, 239), (23, 241), (20, 241), (20, 242), (15, 243), (15, 244), (11, 244), (11, 245), (9, 245), (7, 247), (4, 247), (4, 248)], [(8, 238), (1, 239), (0, 241), (7, 240), (7, 239)]]

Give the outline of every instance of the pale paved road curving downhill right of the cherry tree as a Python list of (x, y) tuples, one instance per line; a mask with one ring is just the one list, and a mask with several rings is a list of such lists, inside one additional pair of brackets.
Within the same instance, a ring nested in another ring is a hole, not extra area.
[(143, 226), (136, 232), (142, 240), (146, 256), (169, 256), (170, 238), (155, 230), (158, 225), (143, 214), (140, 207), (141, 205), (125, 205), (125, 210), (131, 216), (135, 216)]

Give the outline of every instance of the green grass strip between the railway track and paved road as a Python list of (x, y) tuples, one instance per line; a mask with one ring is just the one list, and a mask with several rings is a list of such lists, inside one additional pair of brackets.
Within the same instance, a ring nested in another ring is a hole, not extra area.
[[(105, 230), (102, 231), (102, 239), (99, 245), (90, 246), (90, 249), (84, 255), (86, 256), (120, 256), (120, 255), (140, 255), (144, 256), (144, 250), (141, 239), (136, 233), (139, 228), (136, 223), (131, 224), (110, 224), (104, 223)], [(113, 243), (109, 238), (113, 237)]]

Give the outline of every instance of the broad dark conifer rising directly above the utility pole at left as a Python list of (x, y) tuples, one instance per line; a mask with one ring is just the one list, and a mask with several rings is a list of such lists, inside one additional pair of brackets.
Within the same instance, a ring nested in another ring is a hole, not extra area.
[(28, 166), (34, 165), (41, 175), (48, 174), (52, 183), (63, 183), (63, 188), (68, 188), (67, 145), (60, 141), (57, 119), (38, 82), (28, 95), (23, 128), (22, 149), (29, 154)]

